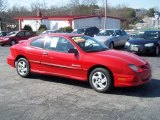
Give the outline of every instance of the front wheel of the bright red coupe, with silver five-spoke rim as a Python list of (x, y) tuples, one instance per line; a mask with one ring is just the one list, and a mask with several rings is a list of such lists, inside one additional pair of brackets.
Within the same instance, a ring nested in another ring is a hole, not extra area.
[(113, 88), (110, 72), (104, 68), (96, 68), (89, 75), (89, 83), (97, 92), (109, 92)]

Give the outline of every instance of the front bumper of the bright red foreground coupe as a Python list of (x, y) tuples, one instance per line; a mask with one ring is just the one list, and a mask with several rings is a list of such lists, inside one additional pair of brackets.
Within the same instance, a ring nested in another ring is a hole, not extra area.
[(152, 78), (151, 70), (143, 70), (142, 72), (135, 73), (134, 75), (114, 74), (115, 87), (131, 87), (138, 86), (149, 82)]

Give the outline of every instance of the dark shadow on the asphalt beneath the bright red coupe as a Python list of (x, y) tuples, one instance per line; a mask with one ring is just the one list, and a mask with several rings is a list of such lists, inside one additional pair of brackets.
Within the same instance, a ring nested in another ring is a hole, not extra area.
[[(85, 81), (78, 81), (78, 80), (73, 80), (73, 79), (48, 76), (48, 75), (37, 75), (37, 74), (32, 74), (31, 78), (91, 89), (89, 83)], [(125, 96), (135, 96), (135, 97), (142, 97), (142, 98), (154, 98), (154, 97), (160, 97), (159, 89), (160, 89), (160, 80), (152, 79), (149, 83), (144, 84), (144, 85), (140, 85), (136, 87), (114, 88), (112, 89), (111, 92), (102, 93), (102, 94), (125, 95)]]

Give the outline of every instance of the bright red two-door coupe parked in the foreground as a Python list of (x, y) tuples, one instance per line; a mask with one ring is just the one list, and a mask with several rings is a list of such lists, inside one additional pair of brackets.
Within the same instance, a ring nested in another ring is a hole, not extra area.
[(10, 51), (7, 62), (22, 77), (35, 72), (89, 81), (98, 92), (151, 80), (147, 61), (132, 53), (108, 49), (85, 35), (38, 36), (12, 46)]

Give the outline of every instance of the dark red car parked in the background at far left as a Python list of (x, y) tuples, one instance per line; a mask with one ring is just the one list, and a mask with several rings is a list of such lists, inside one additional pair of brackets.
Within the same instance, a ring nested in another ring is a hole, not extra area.
[(0, 37), (0, 45), (14, 45), (21, 40), (27, 40), (35, 36), (33, 32), (21, 30), (10, 32), (7, 36)]

